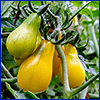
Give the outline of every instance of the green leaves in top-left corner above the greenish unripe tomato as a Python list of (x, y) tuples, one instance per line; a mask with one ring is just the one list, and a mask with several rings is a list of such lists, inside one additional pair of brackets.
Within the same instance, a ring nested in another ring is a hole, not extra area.
[(16, 23), (16, 26), (14, 26), (14, 20), (10, 16), (11, 11), (11, 4), (13, 4), (14, 1), (2, 1), (2, 7), (1, 7), (1, 27), (3, 28), (4, 32), (11, 32), (16, 27), (18, 27), (23, 21), (18, 20)]

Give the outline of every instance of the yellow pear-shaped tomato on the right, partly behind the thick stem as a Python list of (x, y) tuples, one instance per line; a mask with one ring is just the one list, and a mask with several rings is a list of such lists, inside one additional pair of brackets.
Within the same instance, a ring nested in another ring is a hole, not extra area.
[[(68, 80), (70, 88), (79, 87), (85, 80), (85, 70), (78, 58), (77, 50), (72, 44), (65, 46), (65, 57), (67, 62)], [(62, 66), (59, 70), (59, 79), (63, 83)]]

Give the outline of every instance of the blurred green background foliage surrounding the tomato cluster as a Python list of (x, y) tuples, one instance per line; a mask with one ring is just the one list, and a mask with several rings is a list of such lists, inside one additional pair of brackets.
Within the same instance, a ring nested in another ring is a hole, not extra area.
[[(12, 7), (17, 6), (19, 1), (2, 1), (1, 6), (1, 27), (2, 33), (10, 33), (16, 27), (18, 27), (23, 20), (19, 18), (14, 25), (14, 16), (11, 15)], [(64, 14), (64, 10), (67, 11), (69, 18), (84, 5), (87, 1), (52, 1), (51, 5), (49, 6), (50, 10), (55, 14), (59, 8), (62, 8), (60, 11), (60, 16), (62, 21), (65, 20), (66, 15)], [(41, 5), (41, 1), (31, 1), (36, 6)], [(44, 3), (48, 3), (48, 1), (44, 1)], [(20, 6), (27, 4), (27, 1), (21, 1)], [(27, 16), (26, 16), (27, 18)], [(89, 42), (85, 48), (77, 49), (80, 60), (84, 65), (86, 70), (86, 81), (90, 79), (93, 75), (99, 72), (99, 57), (97, 56), (97, 51), (95, 50), (95, 44), (93, 41), (93, 36), (91, 34), (89, 25), (93, 26), (93, 31), (95, 32), (96, 41), (99, 45), (99, 1), (91, 1), (91, 3), (84, 8), (77, 16), (76, 16), (77, 24), (73, 23), (68, 30), (75, 30), (80, 34), (81, 44), (85, 45), (87, 40)], [(16, 77), (19, 66), (15, 63), (13, 57), (8, 53), (6, 49), (6, 38), (2, 38), (2, 54), (1, 54), (1, 61), (5, 65), (5, 67), (10, 71), (10, 73)], [(79, 45), (78, 45), (79, 46)], [(1, 73), (1, 77), (5, 78), (6, 76)], [(55, 76), (49, 87), (45, 92), (42, 93), (35, 93), (37, 97), (41, 99), (62, 99), (62, 91), (63, 86), (59, 82), (58, 76)], [(83, 91), (82, 91), (83, 92)], [(99, 98), (99, 79), (89, 85), (86, 91), (87, 99)], [(79, 99), (81, 97), (81, 92), (78, 93), (73, 97), (73, 99)], [(34, 98), (34, 94), (31, 92), (23, 92), (16, 91), (10, 87), (9, 84), (1, 84), (1, 98), (2, 99), (29, 99)]]

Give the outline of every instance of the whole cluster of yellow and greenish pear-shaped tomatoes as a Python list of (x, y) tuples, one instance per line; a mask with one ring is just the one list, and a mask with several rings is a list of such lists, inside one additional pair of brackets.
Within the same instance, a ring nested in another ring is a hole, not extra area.
[[(43, 9), (39, 13), (32, 13), (10, 33), (6, 42), (9, 53), (20, 65), (17, 80), (20, 89), (24, 91), (45, 91), (51, 79), (56, 75), (59, 75), (59, 79), (63, 83), (62, 62), (55, 45), (59, 45), (65, 37), (63, 38), (60, 33), (58, 42), (41, 38), (39, 31), (42, 20), (39, 16), (41, 12), (43, 13)], [(58, 28), (52, 29), (54, 34), (58, 31)], [(49, 35), (49, 33), (47, 34)], [(61, 47), (66, 57), (69, 85), (71, 88), (78, 87), (85, 80), (85, 71), (78, 58), (77, 50), (70, 43)]]

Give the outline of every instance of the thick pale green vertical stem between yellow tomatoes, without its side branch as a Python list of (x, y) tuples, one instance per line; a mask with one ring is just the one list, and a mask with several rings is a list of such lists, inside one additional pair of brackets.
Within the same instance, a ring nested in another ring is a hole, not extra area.
[(68, 81), (66, 58), (65, 58), (64, 52), (61, 48), (61, 45), (55, 45), (55, 47), (56, 47), (56, 50), (57, 50), (59, 57), (61, 59), (61, 62), (62, 62), (63, 99), (67, 99), (67, 97), (69, 96), (70, 87), (69, 87), (69, 81)]

